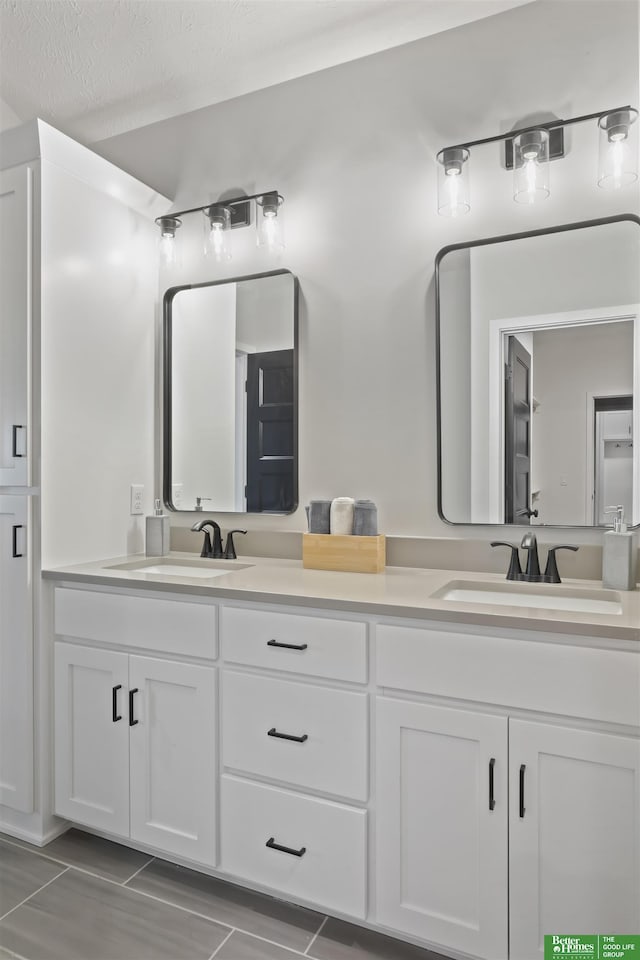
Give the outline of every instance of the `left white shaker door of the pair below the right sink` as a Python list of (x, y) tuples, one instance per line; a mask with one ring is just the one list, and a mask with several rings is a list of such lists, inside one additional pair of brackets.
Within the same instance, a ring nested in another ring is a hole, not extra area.
[(376, 919), (504, 960), (506, 719), (378, 698), (376, 742)]

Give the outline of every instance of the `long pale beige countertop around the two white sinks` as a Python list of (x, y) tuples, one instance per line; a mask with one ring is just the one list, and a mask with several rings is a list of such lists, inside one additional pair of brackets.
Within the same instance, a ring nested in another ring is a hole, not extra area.
[[(192, 553), (171, 553), (181, 561), (199, 557)], [(158, 558), (160, 559), (160, 558)], [(189, 576), (146, 574), (142, 570), (112, 569), (136, 560), (152, 563), (154, 558), (114, 557), (72, 566), (44, 570), (47, 580), (82, 582), (107, 587), (191, 594), (212, 599), (281, 603), (300, 607), (329, 608), (354, 614), (410, 617), (495, 626), (503, 629), (538, 630), (574, 636), (640, 640), (640, 590), (613, 591), (619, 598), (620, 614), (578, 613), (542, 607), (503, 606), (492, 603), (448, 601), (434, 596), (452, 581), (495, 584), (503, 587), (502, 576), (456, 570), (387, 567), (383, 573), (339, 573), (304, 569), (299, 560), (241, 557), (225, 561), (228, 572), (207, 582)], [(212, 566), (216, 561), (210, 561)], [(536, 592), (538, 584), (512, 585), (519, 594)], [(565, 580), (545, 585), (545, 591), (601, 591), (602, 584), (591, 580)], [(608, 594), (611, 591), (607, 591)]]

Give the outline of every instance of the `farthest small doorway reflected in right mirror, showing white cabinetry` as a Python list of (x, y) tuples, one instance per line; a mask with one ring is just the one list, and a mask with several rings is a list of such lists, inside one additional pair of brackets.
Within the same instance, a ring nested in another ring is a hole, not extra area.
[(608, 507), (633, 517), (633, 397), (594, 397), (593, 422), (593, 523), (610, 526)]

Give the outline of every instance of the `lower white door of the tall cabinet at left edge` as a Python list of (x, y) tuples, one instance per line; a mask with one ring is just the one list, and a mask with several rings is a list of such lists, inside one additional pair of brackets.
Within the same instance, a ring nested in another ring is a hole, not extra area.
[(0, 497), (0, 804), (33, 810), (28, 497)]

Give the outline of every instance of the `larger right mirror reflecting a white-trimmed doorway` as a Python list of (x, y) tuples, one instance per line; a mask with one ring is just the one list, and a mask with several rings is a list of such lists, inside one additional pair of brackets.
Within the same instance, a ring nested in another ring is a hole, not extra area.
[(436, 259), (438, 509), (450, 523), (640, 522), (640, 220)]

